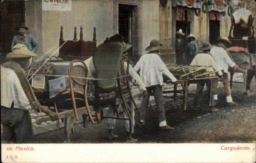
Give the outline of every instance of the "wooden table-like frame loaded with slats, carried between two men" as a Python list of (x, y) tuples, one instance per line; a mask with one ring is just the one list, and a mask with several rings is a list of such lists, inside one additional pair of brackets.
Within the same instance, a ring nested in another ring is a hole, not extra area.
[[(177, 82), (173, 83), (173, 91), (163, 91), (163, 94), (173, 93), (173, 96), (164, 96), (166, 98), (183, 99), (183, 109), (187, 109), (188, 96), (195, 96), (195, 93), (188, 93), (188, 86), (190, 84), (197, 84), (201, 82), (211, 81), (210, 98), (212, 96), (213, 81), (218, 80), (218, 76), (215, 75), (218, 71), (207, 71), (206, 69), (212, 66), (190, 66), (190, 65), (177, 65), (167, 64), (167, 69), (177, 78)], [(165, 79), (166, 81), (166, 79)], [(182, 89), (177, 89), (178, 84), (181, 85)], [(177, 96), (177, 93), (182, 94)]]

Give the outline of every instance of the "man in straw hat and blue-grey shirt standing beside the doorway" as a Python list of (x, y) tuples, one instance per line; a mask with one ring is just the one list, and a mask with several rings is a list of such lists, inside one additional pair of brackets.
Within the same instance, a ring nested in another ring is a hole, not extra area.
[(190, 33), (187, 38), (188, 38), (188, 43), (186, 46), (185, 58), (186, 58), (187, 64), (190, 64), (197, 54), (197, 44), (195, 42), (196, 36), (194, 34)]

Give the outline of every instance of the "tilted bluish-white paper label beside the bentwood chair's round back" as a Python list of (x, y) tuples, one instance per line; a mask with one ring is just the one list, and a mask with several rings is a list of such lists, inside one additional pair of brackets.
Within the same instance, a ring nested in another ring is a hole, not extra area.
[(49, 80), (49, 94), (53, 98), (58, 93), (63, 92), (68, 85), (68, 78), (62, 77), (58, 79)]

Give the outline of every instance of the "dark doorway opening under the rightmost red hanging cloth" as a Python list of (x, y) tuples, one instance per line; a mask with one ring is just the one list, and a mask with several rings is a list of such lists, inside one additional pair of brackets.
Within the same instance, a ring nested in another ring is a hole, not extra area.
[(218, 44), (220, 37), (220, 20), (209, 20), (209, 42), (212, 45)]

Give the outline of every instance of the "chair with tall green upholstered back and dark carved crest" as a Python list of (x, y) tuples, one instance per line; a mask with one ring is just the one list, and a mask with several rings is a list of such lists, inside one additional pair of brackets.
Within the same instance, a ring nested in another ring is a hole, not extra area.
[[(100, 93), (116, 92), (116, 77), (118, 68), (122, 58), (122, 49), (124, 48), (123, 38), (120, 35), (114, 35), (107, 38), (100, 44), (93, 55), (93, 65), (96, 70), (94, 103), (95, 113), (98, 123), (101, 122), (102, 111), (100, 105), (111, 104), (116, 109), (116, 98), (108, 98), (100, 100)], [(105, 80), (107, 79), (107, 80)]]

